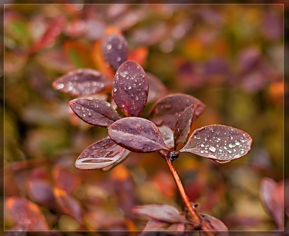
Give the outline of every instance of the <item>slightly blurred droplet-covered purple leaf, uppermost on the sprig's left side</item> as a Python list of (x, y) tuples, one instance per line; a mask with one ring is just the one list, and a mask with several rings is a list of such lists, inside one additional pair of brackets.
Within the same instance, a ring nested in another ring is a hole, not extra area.
[(52, 83), (53, 88), (74, 96), (100, 93), (111, 85), (102, 73), (91, 69), (78, 69), (59, 77)]

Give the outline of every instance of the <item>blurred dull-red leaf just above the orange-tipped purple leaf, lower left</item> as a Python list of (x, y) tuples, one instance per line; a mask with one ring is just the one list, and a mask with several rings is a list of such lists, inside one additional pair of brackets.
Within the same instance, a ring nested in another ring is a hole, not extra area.
[(64, 168), (63, 166), (55, 165), (52, 172), (54, 185), (65, 192), (71, 194), (75, 192), (80, 183), (81, 178), (74, 171)]

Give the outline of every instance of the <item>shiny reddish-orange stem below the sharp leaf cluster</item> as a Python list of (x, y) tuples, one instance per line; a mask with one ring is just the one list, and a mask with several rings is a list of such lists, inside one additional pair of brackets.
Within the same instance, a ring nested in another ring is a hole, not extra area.
[[(191, 213), (191, 216), (193, 217), (194, 222), (201, 224), (201, 219), (194, 207), (195, 204), (191, 202), (189, 197), (187, 196), (184, 186), (181, 182), (181, 179), (178, 176), (175, 167), (173, 166), (173, 163), (168, 159), (168, 154), (166, 154), (164, 151), (158, 151), (158, 153), (165, 159), (166, 163), (168, 164), (168, 167), (170, 168), (170, 171), (178, 187), (178, 191), (181, 194), (184, 207)], [(205, 225), (202, 225), (202, 230), (210, 231)]]

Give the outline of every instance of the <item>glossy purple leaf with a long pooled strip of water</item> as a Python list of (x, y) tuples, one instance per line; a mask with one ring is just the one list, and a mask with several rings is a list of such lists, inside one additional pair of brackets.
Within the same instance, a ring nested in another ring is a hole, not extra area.
[(81, 170), (101, 169), (118, 161), (125, 151), (110, 138), (105, 138), (86, 148), (77, 158), (75, 166)]

